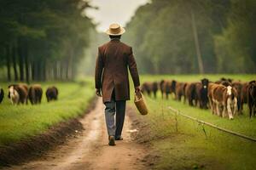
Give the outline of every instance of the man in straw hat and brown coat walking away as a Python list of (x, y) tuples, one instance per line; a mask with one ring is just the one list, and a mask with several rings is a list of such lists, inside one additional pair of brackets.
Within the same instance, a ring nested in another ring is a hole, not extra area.
[(125, 102), (130, 99), (127, 67), (131, 73), (135, 92), (140, 91), (140, 81), (132, 48), (120, 42), (120, 37), (125, 33), (125, 29), (118, 24), (112, 24), (106, 33), (111, 40), (98, 48), (95, 82), (96, 94), (102, 96), (106, 106), (108, 144), (115, 145), (114, 140), (122, 140)]

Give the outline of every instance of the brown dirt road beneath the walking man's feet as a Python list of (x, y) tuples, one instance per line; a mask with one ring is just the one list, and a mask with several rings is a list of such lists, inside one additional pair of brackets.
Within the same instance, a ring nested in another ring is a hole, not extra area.
[(98, 99), (96, 108), (80, 120), (84, 126), (83, 132), (38, 160), (7, 169), (145, 169), (140, 161), (145, 150), (131, 140), (129, 117), (125, 117), (124, 140), (116, 141), (116, 146), (108, 146), (103, 111), (102, 100)]

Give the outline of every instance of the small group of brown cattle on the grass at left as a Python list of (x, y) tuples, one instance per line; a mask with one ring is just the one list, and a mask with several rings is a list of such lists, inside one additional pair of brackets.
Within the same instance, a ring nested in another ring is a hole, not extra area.
[[(50, 100), (58, 99), (58, 89), (55, 86), (49, 87), (46, 90), (46, 99)], [(13, 105), (27, 104), (28, 100), (32, 105), (41, 103), (43, 96), (43, 88), (40, 84), (32, 84), (28, 86), (26, 83), (11, 84), (8, 87), (8, 98)], [(0, 104), (3, 101), (4, 92), (3, 88), (0, 88)]]

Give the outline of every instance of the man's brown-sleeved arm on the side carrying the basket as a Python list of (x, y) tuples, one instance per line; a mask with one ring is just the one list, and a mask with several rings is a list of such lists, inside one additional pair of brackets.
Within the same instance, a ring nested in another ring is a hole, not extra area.
[(137, 64), (132, 53), (132, 48), (130, 50), (131, 52), (128, 56), (129, 71), (131, 73), (131, 78), (134, 84), (134, 88), (136, 89), (136, 91), (139, 91), (140, 79), (138, 76)]

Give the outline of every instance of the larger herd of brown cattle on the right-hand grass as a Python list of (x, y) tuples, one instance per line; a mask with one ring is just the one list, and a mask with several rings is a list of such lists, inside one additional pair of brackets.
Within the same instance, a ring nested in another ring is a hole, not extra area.
[(142, 92), (149, 96), (160, 90), (162, 99), (174, 95), (175, 99), (189, 102), (191, 106), (201, 109), (211, 108), (212, 114), (228, 116), (233, 119), (236, 113), (241, 114), (243, 104), (249, 108), (249, 116), (256, 114), (256, 81), (236, 82), (230, 78), (221, 78), (217, 82), (210, 82), (207, 78), (201, 82), (177, 82), (162, 80), (160, 82), (144, 82)]

